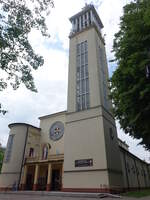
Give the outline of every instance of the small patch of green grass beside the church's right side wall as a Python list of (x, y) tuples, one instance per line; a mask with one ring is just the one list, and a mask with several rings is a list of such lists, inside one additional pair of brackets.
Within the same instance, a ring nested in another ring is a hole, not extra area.
[(123, 196), (136, 197), (136, 198), (150, 196), (150, 189), (127, 192), (124, 193)]

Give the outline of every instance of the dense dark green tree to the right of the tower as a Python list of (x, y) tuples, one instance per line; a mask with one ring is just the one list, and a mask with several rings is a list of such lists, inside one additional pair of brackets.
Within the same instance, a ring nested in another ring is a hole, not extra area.
[(111, 83), (113, 111), (125, 133), (150, 150), (150, 1), (124, 7), (113, 51), (118, 64)]

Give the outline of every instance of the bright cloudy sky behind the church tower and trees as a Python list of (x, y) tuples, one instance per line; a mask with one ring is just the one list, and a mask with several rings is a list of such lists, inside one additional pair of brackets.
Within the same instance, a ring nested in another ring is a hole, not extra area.
[[(130, 0), (54, 0), (55, 8), (47, 18), (47, 26), (51, 37), (43, 38), (38, 31), (33, 30), (29, 36), (30, 42), (37, 53), (44, 57), (45, 63), (33, 72), (38, 93), (33, 93), (21, 86), (14, 91), (12, 88), (1, 92), (0, 102), (8, 110), (0, 116), (0, 143), (6, 146), (9, 135), (8, 124), (15, 122), (29, 123), (39, 127), (38, 117), (67, 109), (67, 82), (69, 62), (69, 33), (71, 24), (69, 18), (79, 12), (85, 3), (94, 3), (104, 24), (106, 54), (109, 75), (116, 68), (113, 59), (112, 44), (114, 34), (119, 30), (119, 19), (123, 14), (123, 6)], [(129, 150), (142, 160), (150, 162), (150, 153), (139, 141), (133, 140), (120, 129), (117, 124), (118, 137), (130, 146)]]

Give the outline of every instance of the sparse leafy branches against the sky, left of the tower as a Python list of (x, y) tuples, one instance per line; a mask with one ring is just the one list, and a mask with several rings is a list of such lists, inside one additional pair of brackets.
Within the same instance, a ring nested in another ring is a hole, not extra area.
[[(21, 83), (36, 92), (32, 69), (44, 63), (36, 54), (28, 36), (32, 29), (49, 37), (45, 17), (54, 6), (53, 0), (0, 0), (0, 91), (10, 84)], [(0, 104), (0, 112), (5, 111)]]

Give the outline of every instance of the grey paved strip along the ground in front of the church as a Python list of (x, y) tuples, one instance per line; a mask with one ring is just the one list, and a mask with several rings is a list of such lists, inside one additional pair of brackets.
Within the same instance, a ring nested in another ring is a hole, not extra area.
[[(105, 197), (105, 198), (85, 198), (85, 197), (62, 197), (62, 196), (50, 196), (50, 195), (42, 195), (42, 194), (21, 194), (21, 193), (2, 193), (0, 192), (0, 200), (136, 200), (139, 198), (128, 198), (128, 197), (121, 197), (121, 198), (111, 198), (111, 197)], [(140, 198), (140, 200), (150, 200), (149, 197)]]

